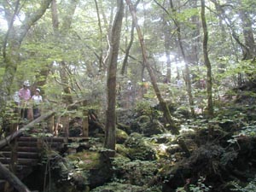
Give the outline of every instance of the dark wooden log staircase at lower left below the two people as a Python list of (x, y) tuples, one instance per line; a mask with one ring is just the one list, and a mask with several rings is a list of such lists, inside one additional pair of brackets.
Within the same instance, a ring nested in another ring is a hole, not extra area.
[[(0, 162), (9, 168), (12, 155), (11, 148), (16, 148), (17, 164), (15, 175), (22, 180), (32, 173), (35, 166), (38, 166), (42, 149), (50, 148), (55, 151), (61, 151), (66, 143), (66, 137), (17, 137), (16, 144), (12, 142), (10, 145), (0, 149)], [(0, 191), (3, 191), (5, 183), (6, 181), (0, 174)]]

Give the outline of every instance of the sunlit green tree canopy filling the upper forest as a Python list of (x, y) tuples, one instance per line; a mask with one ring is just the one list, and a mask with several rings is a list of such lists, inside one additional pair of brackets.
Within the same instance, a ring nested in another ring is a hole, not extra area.
[[(69, 107), (86, 101), (75, 115), (95, 109), (111, 150), (122, 126), (116, 111), (124, 108), (141, 115), (143, 133), (148, 121), (158, 127), (157, 116), (180, 134), (183, 125), (173, 115), (178, 108), (195, 122), (206, 119), (211, 135), (227, 99), (249, 96), (247, 107), (256, 101), (255, 22), (250, 0), (1, 0), (1, 131), (28, 80), (32, 95), (41, 90), (47, 110), (73, 115)], [(178, 144), (191, 162), (196, 159), (182, 137)], [(219, 155), (225, 149), (206, 148)]]

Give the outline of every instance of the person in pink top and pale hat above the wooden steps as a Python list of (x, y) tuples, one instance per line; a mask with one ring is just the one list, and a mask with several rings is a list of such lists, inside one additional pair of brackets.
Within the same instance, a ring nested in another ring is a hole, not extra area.
[(23, 83), (23, 87), (19, 90), (19, 97), (20, 97), (20, 115), (21, 119), (31, 119), (29, 117), (29, 111), (28, 111), (28, 102), (31, 98), (31, 91), (29, 90), (30, 84), (29, 81), (26, 80)]

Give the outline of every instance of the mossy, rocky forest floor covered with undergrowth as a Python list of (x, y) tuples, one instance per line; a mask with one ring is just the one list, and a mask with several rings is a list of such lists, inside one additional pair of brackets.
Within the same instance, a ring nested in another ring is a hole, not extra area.
[(148, 102), (132, 111), (119, 108), (116, 155), (111, 159), (102, 148), (102, 124), (90, 121), (89, 143), (73, 143), (69, 149), (74, 151), (61, 164), (60, 159), (53, 163), (52, 191), (254, 191), (256, 102), (242, 92), (215, 104), (213, 119), (203, 113), (191, 118), (188, 110), (171, 106), (178, 136)]

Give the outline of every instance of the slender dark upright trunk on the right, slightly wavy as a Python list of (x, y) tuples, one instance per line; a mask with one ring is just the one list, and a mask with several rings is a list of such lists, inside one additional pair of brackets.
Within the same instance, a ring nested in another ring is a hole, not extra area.
[(208, 57), (208, 31), (207, 31), (207, 20), (205, 15), (205, 0), (201, 0), (201, 23), (203, 27), (203, 53), (204, 61), (207, 66), (207, 102), (208, 102), (208, 117), (213, 117), (213, 103), (212, 103), (212, 66)]

